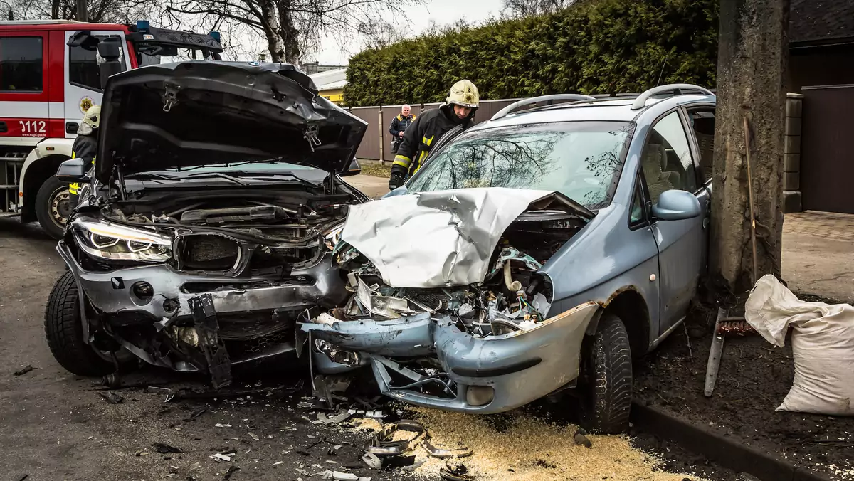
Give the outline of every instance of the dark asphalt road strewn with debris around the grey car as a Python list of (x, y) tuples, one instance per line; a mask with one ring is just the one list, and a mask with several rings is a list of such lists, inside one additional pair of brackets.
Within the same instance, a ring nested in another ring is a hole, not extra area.
[[(28, 481), (150, 481), (170, 479), (171, 473), (182, 481), (222, 479), (232, 465), (241, 467), (232, 481), (310, 479), (319, 478), (311, 474), (321, 471), (312, 465), (340, 466), (325, 460), (359, 464), (355, 444), (366, 435), (356, 439), (349, 431), (310, 424), (302, 416), (311, 414), (295, 408), (299, 395), (165, 403), (164, 396), (137, 389), (118, 391), (124, 397), (120, 404), (102, 399), (102, 391), (95, 390), (98, 380), (66, 372), (44, 340), (44, 304), (64, 269), (55, 245), (37, 226), (0, 219), (0, 480), (18, 481), (27, 474)], [(13, 375), (27, 365), (35, 369)], [(285, 374), (275, 380), (277, 385), (294, 385), (299, 378)], [(177, 384), (170, 373), (154, 368), (132, 372), (125, 381), (202, 386), (196, 379)], [(254, 379), (245, 382), (254, 384)], [(208, 410), (184, 421), (201, 408)], [(232, 427), (218, 428), (217, 423)], [(326, 452), (332, 444), (325, 438), (353, 445), (330, 457)], [(153, 443), (167, 443), (184, 453), (158, 454)], [(211, 449), (224, 448), (237, 450), (230, 463), (209, 458), (216, 452)], [(297, 450), (309, 455), (295, 454)], [(279, 461), (282, 464), (273, 466)], [(200, 467), (191, 469), (196, 462)], [(361, 474), (387, 478), (366, 469)]]

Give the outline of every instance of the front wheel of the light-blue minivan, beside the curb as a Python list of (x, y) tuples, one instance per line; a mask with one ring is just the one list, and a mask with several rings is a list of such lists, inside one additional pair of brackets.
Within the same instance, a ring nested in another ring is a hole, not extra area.
[(605, 312), (596, 334), (585, 344), (579, 378), (581, 424), (601, 434), (625, 432), (632, 405), (632, 355), (626, 326)]

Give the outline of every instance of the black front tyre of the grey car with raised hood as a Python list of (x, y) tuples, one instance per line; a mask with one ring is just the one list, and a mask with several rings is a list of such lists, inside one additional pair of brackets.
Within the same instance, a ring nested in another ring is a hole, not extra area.
[(103, 376), (115, 371), (106, 355), (100, 355), (84, 342), (77, 282), (69, 271), (61, 275), (50, 291), (44, 308), (44, 336), (50, 353), (69, 372)]

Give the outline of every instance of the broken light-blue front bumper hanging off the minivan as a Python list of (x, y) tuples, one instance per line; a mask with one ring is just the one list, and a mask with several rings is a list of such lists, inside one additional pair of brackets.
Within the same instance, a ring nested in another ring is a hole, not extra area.
[[(465, 413), (508, 411), (547, 396), (578, 377), (584, 333), (600, 305), (588, 302), (524, 331), (475, 337), (449, 316), (304, 323), (314, 368), (344, 372), (370, 365), (386, 396)], [(317, 349), (319, 344), (336, 349)], [(355, 355), (342, 359), (342, 351)], [(407, 367), (436, 361), (430, 374)], [(425, 392), (430, 388), (431, 392)]]

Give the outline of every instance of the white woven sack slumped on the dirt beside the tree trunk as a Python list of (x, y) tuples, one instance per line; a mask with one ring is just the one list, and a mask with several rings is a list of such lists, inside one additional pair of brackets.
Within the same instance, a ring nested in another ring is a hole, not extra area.
[(780, 347), (793, 328), (794, 383), (777, 411), (854, 415), (854, 307), (801, 301), (769, 274), (753, 287), (745, 319)]

